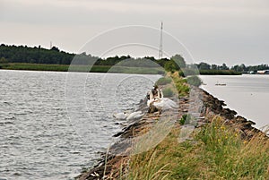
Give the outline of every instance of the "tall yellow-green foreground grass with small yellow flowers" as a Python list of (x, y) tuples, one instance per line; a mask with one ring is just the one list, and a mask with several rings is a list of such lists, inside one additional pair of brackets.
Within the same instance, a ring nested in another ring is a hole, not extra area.
[(268, 139), (256, 134), (242, 141), (223, 122), (214, 116), (184, 142), (178, 142), (180, 128), (175, 127), (157, 147), (132, 156), (122, 179), (268, 179)]

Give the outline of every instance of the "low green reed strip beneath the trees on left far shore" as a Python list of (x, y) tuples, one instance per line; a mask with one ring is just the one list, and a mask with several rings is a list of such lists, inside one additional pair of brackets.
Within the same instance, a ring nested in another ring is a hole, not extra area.
[[(69, 64), (0, 64), (0, 69), (6, 70), (30, 70), (30, 71), (55, 71), (55, 72), (89, 72), (88, 65), (72, 65), (69, 69)], [(91, 73), (143, 73), (143, 74), (162, 74), (164, 71), (161, 68), (147, 67), (126, 67), (126, 66), (111, 66), (109, 65), (94, 65), (91, 68)]]

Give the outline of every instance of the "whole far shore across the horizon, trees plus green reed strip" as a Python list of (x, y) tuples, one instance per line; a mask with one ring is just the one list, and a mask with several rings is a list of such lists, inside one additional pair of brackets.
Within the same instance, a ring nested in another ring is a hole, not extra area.
[[(107, 58), (100, 58), (97, 56), (87, 55), (85, 52), (79, 55), (61, 51), (58, 47), (51, 47), (46, 49), (43, 47), (27, 47), (14, 45), (0, 45), (0, 69), (18, 69), (18, 70), (39, 70), (39, 71), (68, 71), (69, 64), (73, 59), (79, 67), (77, 71), (84, 71), (82, 68), (84, 64), (92, 64), (91, 72), (106, 73), (112, 66), (117, 66), (117, 69), (125, 67), (123, 73), (130, 73), (131, 67), (141, 68), (140, 72), (154, 68), (150, 73), (163, 73), (163, 68), (166, 71), (180, 71), (187, 69), (198, 68), (201, 74), (227, 74), (235, 75), (241, 73), (256, 73), (260, 70), (269, 69), (268, 64), (250, 65), (237, 64), (228, 67), (225, 63), (218, 64), (186, 64), (183, 56), (175, 55), (170, 58), (156, 59), (153, 56), (144, 56), (134, 58), (129, 55), (126, 56), (112, 56)], [(179, 66), (181, 69), (179, 68)], [(126, 68), (128, 67), (128, 68)], [(160, 68), (162, 70), (160, 70)], [(113, 70), (116, 71), (117, 70)], [(120, 70), (120, 72), (122, 72)], [(149, 72), (149, 71), (148, 71)]]

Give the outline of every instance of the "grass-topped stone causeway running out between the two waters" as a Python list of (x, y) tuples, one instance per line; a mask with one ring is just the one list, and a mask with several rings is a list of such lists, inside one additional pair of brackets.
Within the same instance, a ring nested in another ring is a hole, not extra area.
[[(115, 156), (107, 153), (100, 164), (86, 169), (77, 179), (269, 179), (269, 140), (265, 133), (251, 127), (252, 122), (247, 119), (234, 116), (232, 110), (223, 108), (222, 101), (191, 87), (192, 95), (201, 97), (205, 107), (199, 121), (193, 121), (195, 116), (187, 116), (187, 109), (200, 102), (187, 96), (190, 86), (187, 78), (180, 77), (178, 72), (167, 73), (156, 83), (163, 91), (167, 89), (167, 94), (177, 93), (182, 98), (178, 109), (162, 111), (161, 115), (158, 112), (145, 114), (143, 119), (127, 125), (123, 132), (116, 134), (115, 137), (123, 141), (118, 141), (110, 150), (131, 153), (132, 148), (126, 147), (125, 140), (150, 133), (152, 125), (161, 116), (176, 113), (175, 125), (169, 134), (157, 146), (140, 154)], [(195, 124), (190, 132), (182, 126), (187, 122)], [(181, 141), (179, 137), (184, 137), (184, 133), (190, 136)], [(155, 134), (151, 134), (150, 140), (155, 138)]]

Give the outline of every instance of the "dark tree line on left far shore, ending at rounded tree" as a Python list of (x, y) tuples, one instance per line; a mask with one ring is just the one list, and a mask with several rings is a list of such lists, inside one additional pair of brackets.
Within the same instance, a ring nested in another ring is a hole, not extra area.
[[(72, 60), (79, 59), (79, 64), (89, 64), (89, 61), (95, 62), (94, 65), (115, 65), (122, 66), (137, 66), (137, 67), (151, 67), (151, 66), (166, 66), (172, 65), (175, 69), (180, 69), (178, 64), (169, 61), (169, 58), (155, 59), (153, 56), (144, 56), (134, 58), (131, 56), (112, 56), (107, 58), (100, 58), (97, 56), (87, 55), (82, 53), (79, 55), (67, 53), (59, 50), (58, 47), (46, 49), (43, 47), (27, 47), (27, 46), (8, 46), (0, 45), (0, 63), (30, 63), (30, 64), (71, 64)], [(182, 67), (185, 67), (185, 60), (182, 56), (176, 55), (171, 58), (176, 59)], [(124, 61), (127, 60), (127, 61)], [(147, 61), (145, 61), (147, 60)]]

